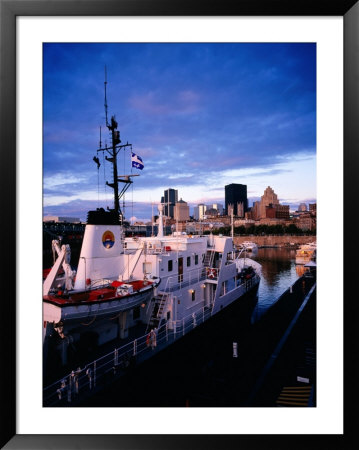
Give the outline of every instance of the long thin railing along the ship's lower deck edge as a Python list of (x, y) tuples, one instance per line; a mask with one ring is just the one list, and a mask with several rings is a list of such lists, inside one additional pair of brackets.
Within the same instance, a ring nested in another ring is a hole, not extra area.
[(86, 364), (83, 368), (74, 368), (44, 388), (44, 406), (71, 406), (79, 400), (86, 399), (205, 322), (210, 316), (211, 308), (202, 305), (182, 319), (169, 320), (155, 329), (155, 337), (151, 333), (146, 333)]

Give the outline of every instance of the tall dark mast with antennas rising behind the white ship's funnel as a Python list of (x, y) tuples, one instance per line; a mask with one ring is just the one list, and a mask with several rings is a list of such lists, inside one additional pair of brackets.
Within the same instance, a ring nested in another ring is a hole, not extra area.
[[(105, 148), (101, 148), (101, 138), (100, 138), (100, 148), (97, 149), (97, 153), (98, 152), (107, 152), (109, 154), (109, 156), (105, 156), (106, 161), (109, 161), (112, 164), (113, 167), (113, 179), (112, 182), (109, 183), (108, 181), (106, 181), (106, 185), (112, 187), (113, 189), (113, 196), (114, 196), (114, 205), (113, 205), (113, 209), (108, 208), (110, 211), (114, 212), (116, 215), (116, 218), (118, 218), (120, 220), (120, 223), (123, 223), (123, 213), (121, 211), (120, 208), (120, 199), (123, 197), (124, 193), (127, 191), (127, 189), (129, 188), (130, 184), (133, 183), (133, 181), (131, 180), (130, 177), (134, 176), (134, 175), (118, 175), (118, 170), (117, 170), (117, 155), (119, 154), (121, 149), (124, 149), (126, 147), (130, 147), (132, 146), (132, 144), (129, 144), (128, 142), (126, 144), (122, 144), (121, 145), (121, 139), (120, 139), (120, 132), (118, 131), (118, 123), (116, 121), (115, 116), (111, 116), (111, 120), (110, 122), (108, 122), (108, 104), (107, 104), (107, 70), (106, 70), (106, 66), (105, 66), (105, 82), (104, 82), (104, 87), (105, 87), (105, 116), (106, 116), (106, 126), (110, 132), (110, 136), (111, 136), (111, 146), (109, 147), (105, 147)], [(121, 192), (119, 192), (119, 182), (124, 183), (124, 186), (121, 190)]]

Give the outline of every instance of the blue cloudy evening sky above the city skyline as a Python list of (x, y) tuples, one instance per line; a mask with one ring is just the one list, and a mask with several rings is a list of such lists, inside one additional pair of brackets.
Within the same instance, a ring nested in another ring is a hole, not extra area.
[[(86, 220), (113, 207), (104, 108), (144, 169), (121, 208), (150, 220), (163, 191), (193, 206), (222, 203), (247, 185), (248, 203), (271, 186), (282, 204), (316, 202), (316, 46), (311, 43), (86, 44), (43, 47), (43, 212)], [(98, 156), (98, 169), (93, 157)]]

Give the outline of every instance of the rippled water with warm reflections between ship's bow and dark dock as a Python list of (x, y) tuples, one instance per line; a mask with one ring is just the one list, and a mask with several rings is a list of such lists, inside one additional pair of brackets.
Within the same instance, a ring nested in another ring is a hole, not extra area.
[(252, 321), (263, 313), (304, 273), (304, 266), (295, 264), (295, 250), (288, 248), (259, 248), (249, 254), (262, 265), (262, 279), (258, 289), (258, 302)]

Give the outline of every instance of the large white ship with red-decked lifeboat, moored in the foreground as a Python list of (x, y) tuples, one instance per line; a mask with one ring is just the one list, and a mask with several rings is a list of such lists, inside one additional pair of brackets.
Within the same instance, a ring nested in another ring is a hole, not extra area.
[(100, 367), (91, 357), (111, 355), (104, 369), (111, 373), (130, 359), (150, 358), (230, 305), (256, 296), (261, 279), (260, 264), (242, 257), (232, 237), (166, 235), (162, 204), (156, 234), (126, 236), (119, 200), (135, 175), (118, 176), (117, 156), (130, 144), (121, 144), (114, 116), (107, 127), (112, 146), (102, 148), (100, 140), (97, 152), (110, 154), (113, 180), (107, 184), (114, 206), (89, 211), (76, 270), (70, 245), (52, 241), (57, 257), (43, 283), (44, 366), (52, 370), (45, 376), (51, 380), (44, 389), (48, 405), (60, 401), (66, 389), (70, 395), (74, 386), (78, 391), (79, 380), (93, 387), (91, 377), (97, 370), (99, 379)]

